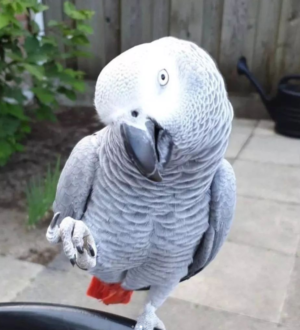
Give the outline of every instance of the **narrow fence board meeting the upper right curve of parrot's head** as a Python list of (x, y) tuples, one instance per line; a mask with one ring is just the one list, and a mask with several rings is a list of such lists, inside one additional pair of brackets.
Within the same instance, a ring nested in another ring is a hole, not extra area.
[(224, 0), (204, 0), (203, 7), (203, 47), (215, 61), (218, 61), (221, 42), (221, 28)]

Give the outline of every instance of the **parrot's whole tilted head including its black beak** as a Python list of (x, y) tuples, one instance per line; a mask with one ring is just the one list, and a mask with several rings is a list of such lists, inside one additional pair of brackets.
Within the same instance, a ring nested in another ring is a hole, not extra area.
[(232, 107), (214, 61), (200, 47), (165, 37), (112, 60), (96, 84), (101, 121), (120, 130), (125, 149), (147, 178), (161, 171), (176, 148), (185, 154), (228, 138)]

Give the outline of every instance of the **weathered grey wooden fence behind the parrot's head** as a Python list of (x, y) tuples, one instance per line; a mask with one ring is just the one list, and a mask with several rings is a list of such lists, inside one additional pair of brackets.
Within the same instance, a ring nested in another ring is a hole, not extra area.
[[(74, 1), (96, 12), (90, 37), (94, 58), (78, 60), (91, 79), (120, 52), (166, 35), (194, 41), (208, 51), (230, 91), (253, 91), (236, 73), (241, 55), (267, 91), (282, 75), (300, 73), (299, 0)], [(53, 2), (44, 0), (50, 6), (46, 22), (63, 19), (63, 0)]]

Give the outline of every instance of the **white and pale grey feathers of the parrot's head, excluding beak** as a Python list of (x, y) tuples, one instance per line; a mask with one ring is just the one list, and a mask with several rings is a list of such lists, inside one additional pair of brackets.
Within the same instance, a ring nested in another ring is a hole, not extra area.
[(213, 60), (195, 44), (173, 37), (136, 46), (110, 62), (99, 75), (95, 106), (106, 125), (144, 127), (146, 118), (156, 120), (180, 149), (204, 143), (232, 117)]

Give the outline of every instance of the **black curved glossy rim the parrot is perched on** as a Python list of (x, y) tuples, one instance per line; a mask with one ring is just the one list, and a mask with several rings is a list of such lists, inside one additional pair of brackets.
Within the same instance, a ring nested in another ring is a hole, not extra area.
[(135, 321), (65, 305), (0, 304), (1, 330), (132, 330)]

